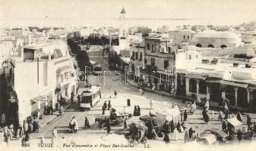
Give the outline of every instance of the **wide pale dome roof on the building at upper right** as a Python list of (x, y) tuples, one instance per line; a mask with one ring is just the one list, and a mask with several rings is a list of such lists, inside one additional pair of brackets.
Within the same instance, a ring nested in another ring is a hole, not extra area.
[(204, 30), (194, 35), (196, 38), (221, 38), (221, 39), (238, 39), (239, 35), (235, 32), (217, 32), (215, 30)]

